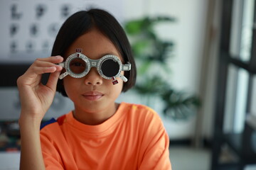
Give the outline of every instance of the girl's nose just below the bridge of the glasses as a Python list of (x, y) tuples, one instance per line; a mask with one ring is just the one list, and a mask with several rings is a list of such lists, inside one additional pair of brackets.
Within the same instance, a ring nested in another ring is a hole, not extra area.
[(86, 85), (101, 85), (102, 84), (102, 77), (97, 72), (96, 68), (91, 68), (90, 72), (85, 76), (85, 84)]

